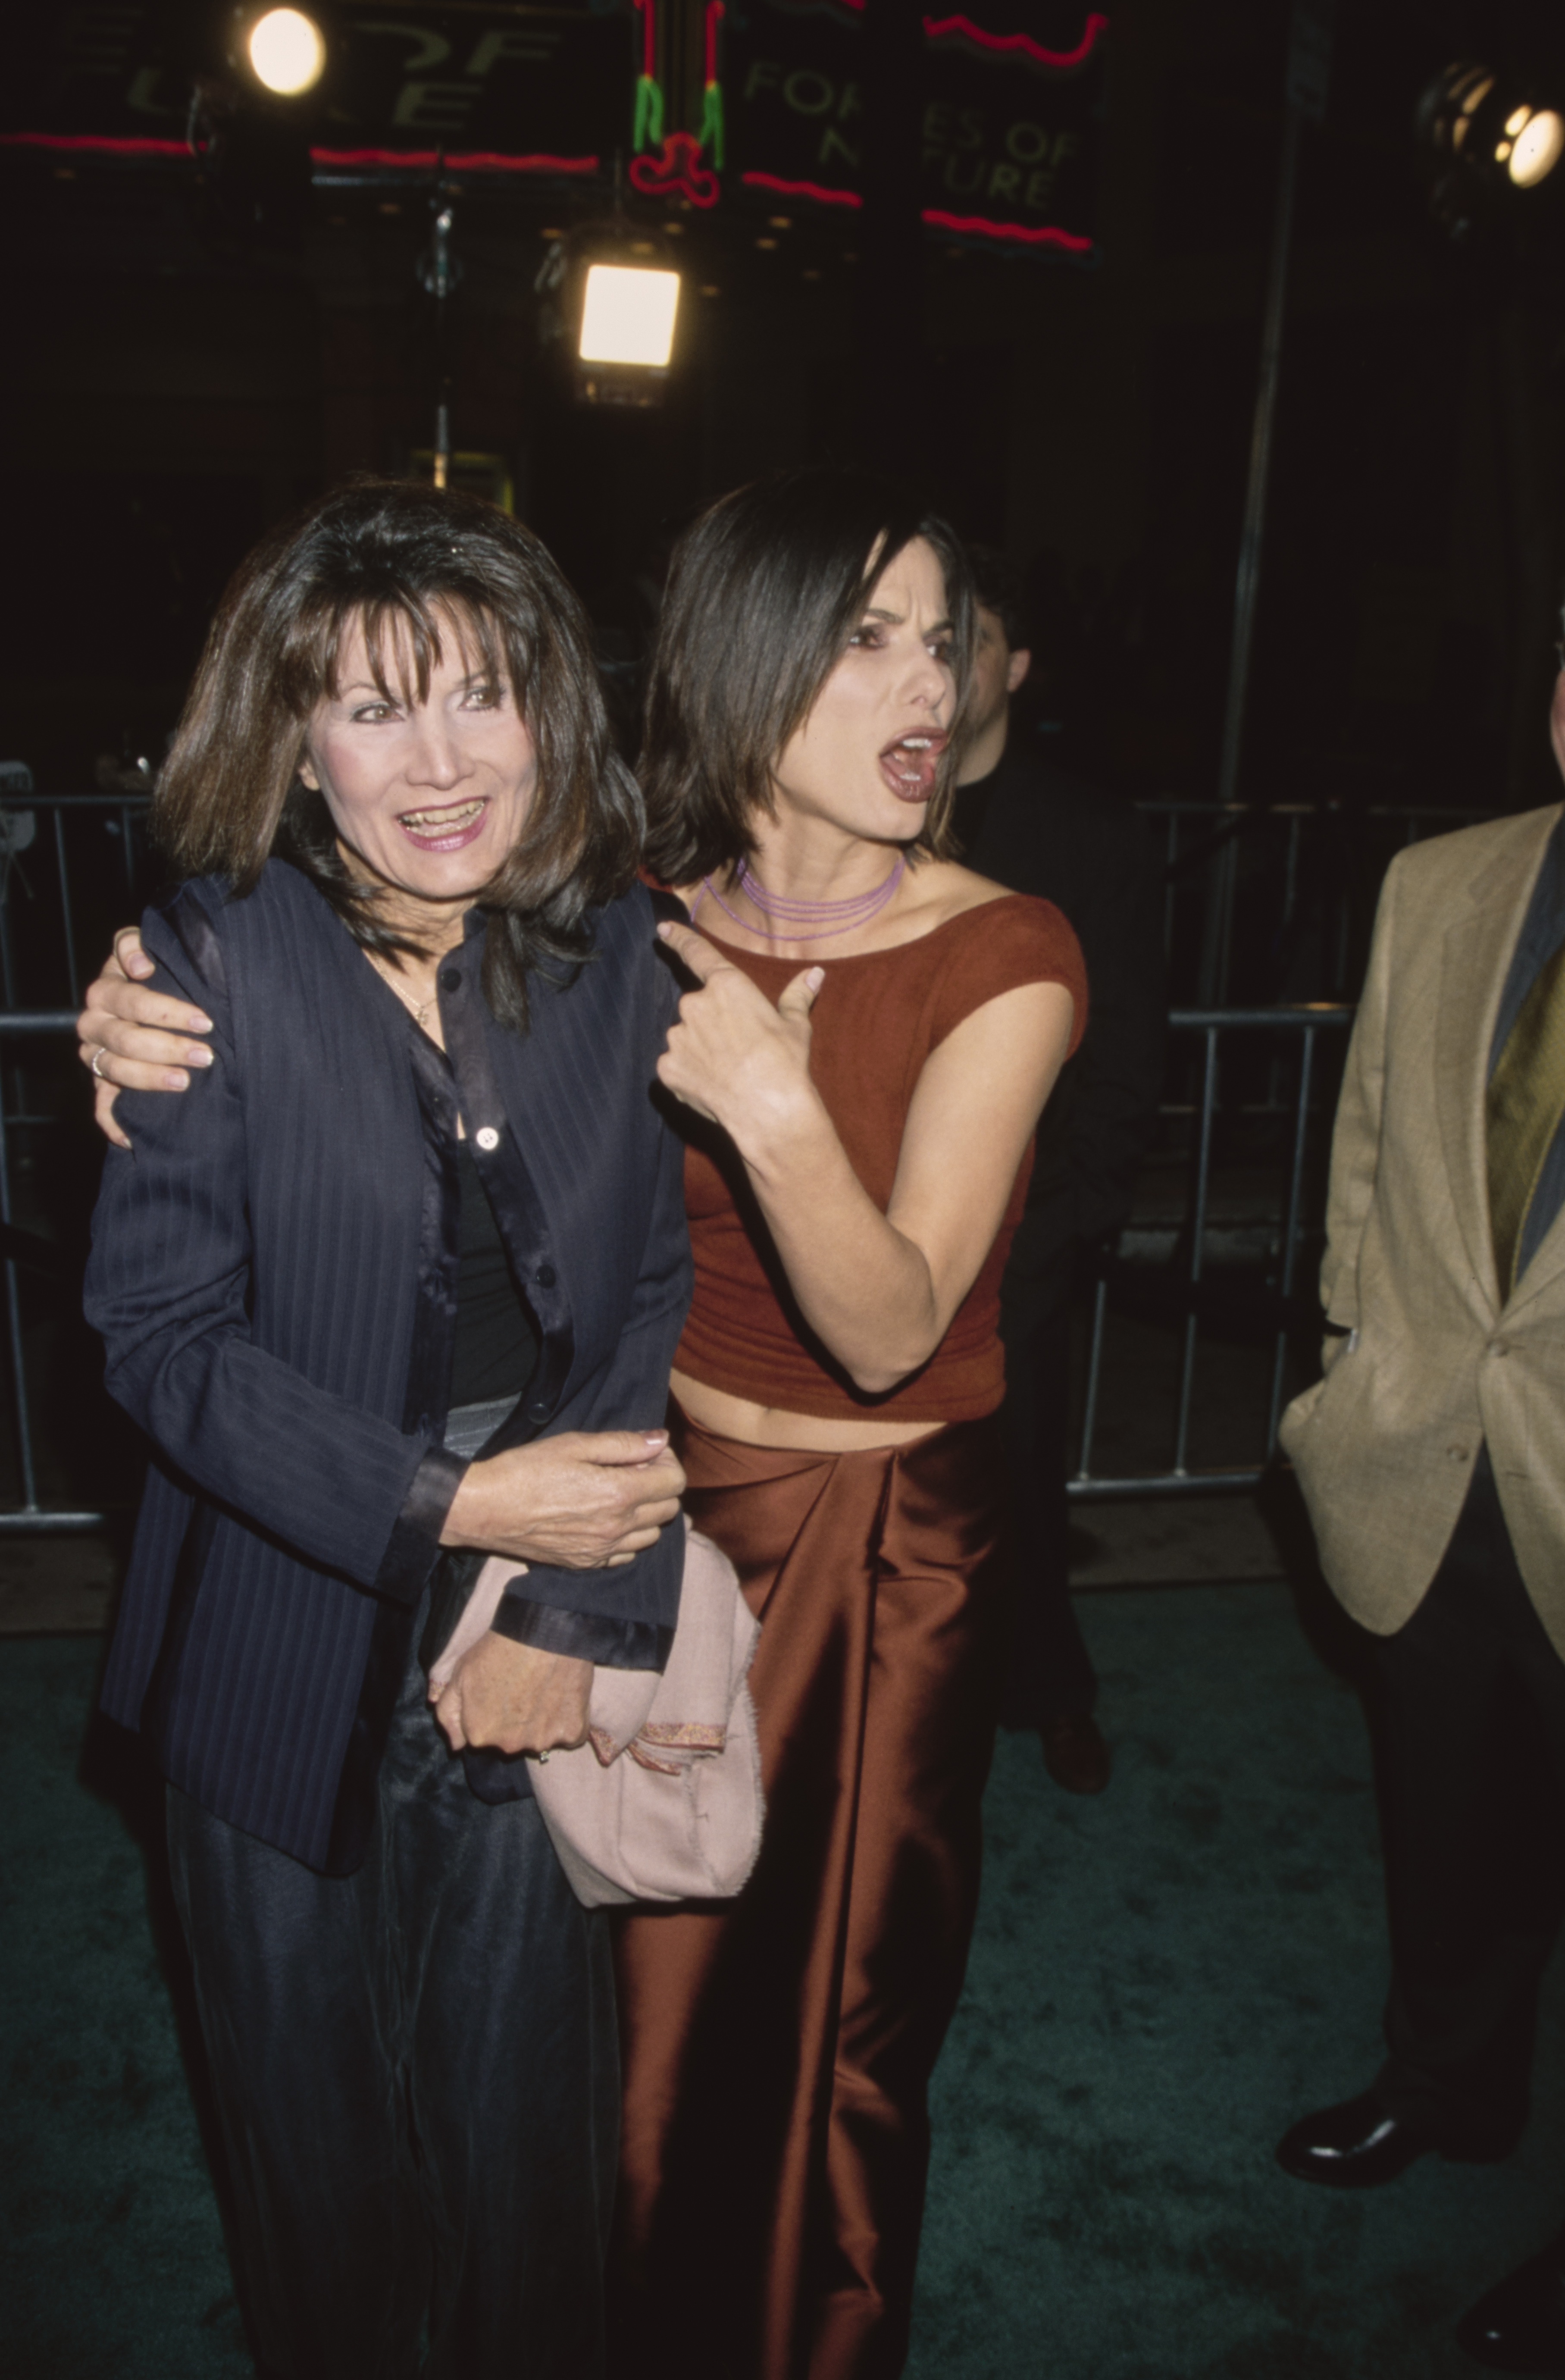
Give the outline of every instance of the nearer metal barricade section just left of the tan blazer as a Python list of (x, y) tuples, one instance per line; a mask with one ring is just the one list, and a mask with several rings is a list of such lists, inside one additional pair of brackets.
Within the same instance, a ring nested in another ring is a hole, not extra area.
[[(1272, 1459), (1277, 1449), (1277, 1426), (1282, 1421), (1282, 1388), (1289, 1352), (1289, 1321), (1294, 1299), (1299, 1292), (1299, 1252), (1306, 1238), (1306, 1226), (1320, 1219), (1306, 1219), (1303, 1192), (1306, 1192), (1306, 1154), (1311, 1123), (1325, 1126), (1330, 1119), (1313, 1107), (1313, 1088), (1318, 1078), (1318, 1042), (1322, 1033), (1344, 1033), (1353, 1021), (1351, 1004), (1320, 1004), (1320, 1007), (1296, 1007), (1296, 1009), (1175, 1009), (1168, 1019), (1175, 1045), (1180, 1035), (1199, 1038), (1201, 1050), (1201, 1092), (1196, 1102), (1196, 1138), (1192, 1152), (1192, 1190), (1187, 1209), (1187, 1271), (1184, 1271), (1184, 1342), (1180, 1359), (1180, 1395), (1173, 1418), (1173, 1454), (1165, 1471), (1146, 1471), (1130, 1478), (1113, 1478), (1096, 1473), (1092, 1468), (1094, 1440), (1099, 1428), (1099, 1404), (1104, 1388), (1104, 1338), (1108, 1323), (1108, 1278), (1099, 1273), (1092, 1299), (1092, 1340), (1087, 1347), (1087, 1395), (1082, 1414), (1082, 1454), (1075, 1478), (1068, 1480), (1068, 1495), (1080, 1502), (1130, 1502), (1137, 1497), (1165, 1497), (1165, 1495), (1218, 1495), (1258, 1488), (1265, 1476), (1265, 1461)], [(1189, 1468), (1189, 1428), (1194, 1407), (1194, 1373), (1196, 1373), (1196, 1345), (1201, 1335), (1201, 1280), (1206, 1271), (1206, 1233), (1208, 1233), (1208, 1200), (1211, 1200), (1211, 1173), (1213, 1173), (1213, 1126), (1218, 1119), (1218, 1050), (1227, 1033), (1291, 1033), (1299, 1035), (1299, 1088), (1291, 1111), (1291, 1133), (1284, 1150), (1284, 1169), (1277, 1183), (1277, 1330), (1272, 1345), (1272, 1385), (1270, 1385), (1270, 1409), (1265, 1430), (1265, 1461), (1251, 1466), (1230, 1466), (1223, 1471), (1192, 1471)]]

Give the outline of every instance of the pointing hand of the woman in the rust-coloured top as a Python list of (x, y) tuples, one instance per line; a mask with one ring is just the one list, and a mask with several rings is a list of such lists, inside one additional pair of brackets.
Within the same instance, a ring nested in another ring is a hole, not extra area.
[(797, 1128), (818, 1107), (809, 1078), (809, 1012), (825, 969), (804, 966), (773, 1007), (744, 969), (692, 926), (666, 923), (659, 935), (699, 983), (680, 1000), (656, 1061), (659, 1083), (697, 1116), (721, 1123), (740, 1154), (754, 1159), (771, 1135)]

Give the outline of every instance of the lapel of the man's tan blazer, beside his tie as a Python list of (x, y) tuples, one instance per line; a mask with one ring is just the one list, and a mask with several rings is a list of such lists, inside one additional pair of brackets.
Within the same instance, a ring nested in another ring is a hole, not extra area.
[[(1451, 1211), (1467, 1247), (1472, 1278), (1491, 1311), (1498, 1314), (1501, 1285), (1494, 1269), (1494, 1233), (1489, 1230), (1489, 1169), (1484, 1150), (1484, 1090), (1489, 1085), (1489, 1045), (1501, 1012), (1506, 976), (1522, 935), (1527, 902), (1544, 864), (1558, 812), (1539, 814), (1534, 847), (1496, 859), (1475, 885), (1463, 916), (1446, 931), (1441, 950), (1441, 1002), (1434, 1047), (1434, 1102), (1439, 1135), (1451, 1176)], [(1558, 1257), (1555, 1257), (1558, 1252)], [(1544, 1259), (1565, 1261), (1565, 1233), (1555, 1221), (1544, 1247), (1527, 1266), (1525, 1290), (1532, 1295)]]

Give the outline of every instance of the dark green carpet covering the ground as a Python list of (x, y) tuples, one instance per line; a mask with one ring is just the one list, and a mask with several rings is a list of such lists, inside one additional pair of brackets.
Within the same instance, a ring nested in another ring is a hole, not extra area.
[[(1508, 2166), (1334, 2197), (1270, 2159), (1358, 2090), (1384, 1987), (1363, 1718), (1284, 1587), (1089, 1597), (1115, 1780), (1001, 1737), (935, 2082), (911, 2380), (1444, 2380), (1565, 2216), (1565, 1994)], [(164, 1959), (155, 1806), (83, 1737), (100, 1647), (0, 1645), (12, 2380), (247, 2373)]]

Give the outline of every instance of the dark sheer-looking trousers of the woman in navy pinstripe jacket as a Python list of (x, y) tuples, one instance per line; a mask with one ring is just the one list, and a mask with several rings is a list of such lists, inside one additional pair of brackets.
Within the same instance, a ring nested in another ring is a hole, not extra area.
[(604, 1918), (535, 1802), (471, 1795), (416, 1664), (378, 1790), (347, 1878), (169, 1790), (262, 2368), (590, 2380), (618, 2142)]

